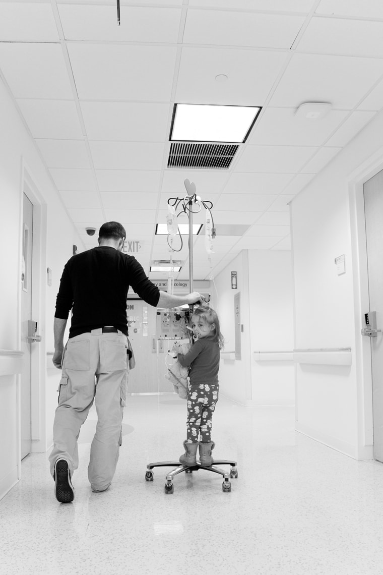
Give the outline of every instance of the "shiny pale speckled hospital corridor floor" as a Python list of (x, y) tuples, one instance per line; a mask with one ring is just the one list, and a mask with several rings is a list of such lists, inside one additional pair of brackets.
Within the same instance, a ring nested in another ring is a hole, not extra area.
[[(182, 453), (185, 402), (133, 396), (110, 489), (87, 480), (91, 411), (79, 438), (72, 504), (59, 504), (48, 455), (29, 455), (0, 501), (3, 575), (381, 575), (383, 465), (357, 462), (294, 431), (294, 408), (220, 398), (216, 458), (234, 458), (231, 492), (198, 470), (174, 479), (146, 464)], [(229, 467), (230, 469), (230, 467)]]

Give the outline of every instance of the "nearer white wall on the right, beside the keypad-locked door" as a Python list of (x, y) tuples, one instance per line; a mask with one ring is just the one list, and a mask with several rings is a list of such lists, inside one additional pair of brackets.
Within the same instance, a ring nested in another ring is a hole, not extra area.
[[(352, 361), (297, 365), (296, 427), (355, 458), (371, 456), (372, 434), (358, 432), (358, 417), (370, 414), (360, 410), (361, 387), (368, 384), (357, 371), (361, 322), (350, 182), (373, 156), (383, 163), (382, 131), (380, 114), (292, 201), (295, 347), (351, 347)], [(346, 273), (337, 275), (334, 258), (343, 254)]]

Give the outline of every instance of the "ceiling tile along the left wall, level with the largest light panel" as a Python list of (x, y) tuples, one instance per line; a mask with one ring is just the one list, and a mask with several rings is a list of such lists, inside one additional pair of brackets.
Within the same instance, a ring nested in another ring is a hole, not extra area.
[(75, 102), (19, 99), (17, 104), (34, 138), (83, 139)]

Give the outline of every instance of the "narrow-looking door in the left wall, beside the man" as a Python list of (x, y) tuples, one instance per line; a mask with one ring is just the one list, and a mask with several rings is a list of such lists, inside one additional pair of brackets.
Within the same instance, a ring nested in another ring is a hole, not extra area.
[(21, 458), (31, 451), (31, 346), (28, 342), (28, 321), (32, 319), (32, 241), (33, 204), (24, 194), (22, 217), (21, 275)]

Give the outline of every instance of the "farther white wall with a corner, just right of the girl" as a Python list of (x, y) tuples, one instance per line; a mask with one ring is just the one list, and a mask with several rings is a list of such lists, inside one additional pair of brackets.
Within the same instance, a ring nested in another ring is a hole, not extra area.
[[(231, 289), (237, 271), (237, 290)], [(257, 361), (256, 351), (292, 351), (292, 267), (289, 251), (244, 250), (215, 278), (216, 307), (225, 350), (219, 371), (220, 393), (242, 405), (295, 402), (292, 361)], [(241, 360), (234, 359), (234, 297), (241, 293)]]

